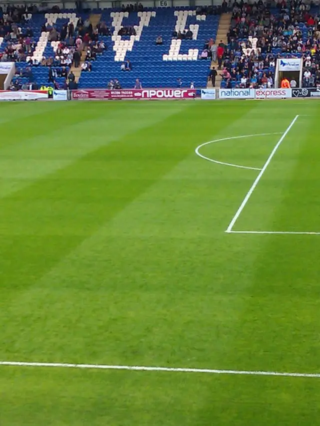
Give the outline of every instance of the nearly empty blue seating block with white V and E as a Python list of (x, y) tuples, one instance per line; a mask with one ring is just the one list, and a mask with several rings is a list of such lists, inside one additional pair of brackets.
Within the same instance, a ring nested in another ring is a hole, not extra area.
[[(81, 74), (79, 87), (105, 87), (114, 78), (124, 88), (132, 88), (136, 78), (142, 87), (176, 87), (178, 78), (184, 87), (191, 82), (197, 87), (206, 86), (209, 61), (198, 60), (198, 52), (208, 38), (216, 35), (218, 16), (204, 16), (199, 23), (195, 10), (159, 8), (130, 14), (104, 10), (101, 21), (109, 22), (110, 17), (112, 40), (103, 38), (109, 48), (93, 63), (92, 72)], [(136, 35), (118, 36), (119, 22), (133, 27)], [(172, 38), (174, 31), (188, 28), (193, 30), (192, 40)], [(157, 36), (162, 37), (161, 45), (155, 44)], [(132, 71), (120, 70), (124, 58), (130, 61)]]

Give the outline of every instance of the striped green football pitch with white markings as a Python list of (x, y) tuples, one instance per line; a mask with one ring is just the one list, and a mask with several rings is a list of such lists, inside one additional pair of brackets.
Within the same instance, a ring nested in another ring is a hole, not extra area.
[(318, 424), (319, 120), (1, 103), (0, 425)]

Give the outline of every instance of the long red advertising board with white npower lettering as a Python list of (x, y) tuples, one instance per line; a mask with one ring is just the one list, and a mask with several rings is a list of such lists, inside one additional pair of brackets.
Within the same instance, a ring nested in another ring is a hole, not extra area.
[(72, 90), (72, 99), (192, 99), (194, 97), (194, 89)]

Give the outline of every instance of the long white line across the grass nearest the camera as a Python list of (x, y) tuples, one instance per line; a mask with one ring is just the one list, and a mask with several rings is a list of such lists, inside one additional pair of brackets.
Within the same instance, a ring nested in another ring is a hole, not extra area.
[(173, 367), (146, 367), (139, 365), (100, 365), (100, 364), (70, 364), (61, 362), (18, 362), (0, 361), (0, 365), (18, 367), (56, 367), (82, 368), (99, 370), (133, 370), (133, 371), (170, 371), (180, 373), (208, 373), (208, 374), (239, 374), (252, 376), (285, 376), (285, 377), (313, 377), (320, 378), (320, 373), (283, 373), (278, 371), (245, 371), (245, 370), (218, 370), (210, 368), (173, 368)]

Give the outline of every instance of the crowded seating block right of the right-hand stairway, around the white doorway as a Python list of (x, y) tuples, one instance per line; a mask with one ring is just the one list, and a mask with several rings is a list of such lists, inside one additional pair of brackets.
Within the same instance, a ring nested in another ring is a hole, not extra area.
[[(221, 88), (273, 87), (277, 58), (303, 58), (303, 86), (320, 84), (318, 7), (285, 1), (267, 9), (262, 3), (234, 7), (223, 55)], [(298, 84), (298, 82), (296, 82)]]

